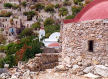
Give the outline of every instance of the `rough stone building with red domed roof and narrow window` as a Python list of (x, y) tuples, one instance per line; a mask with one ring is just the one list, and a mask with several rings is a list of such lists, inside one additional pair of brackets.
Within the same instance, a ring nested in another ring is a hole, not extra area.
[(74, 19), (64, 20), (61, 31), (62, 57), (66, 65), (69, 66), (72, 59), (81, 54), (91, 54), (91, 59), (95, 54), (100, 54), (101, 58), (102, 54), (108, 55), (107, 4), (108, 0), (94, 0)]

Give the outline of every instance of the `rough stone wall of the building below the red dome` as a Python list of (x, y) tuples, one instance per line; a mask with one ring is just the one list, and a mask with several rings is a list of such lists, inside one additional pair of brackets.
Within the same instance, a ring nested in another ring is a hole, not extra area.
[[(93, 40), (93, 52), (89, 52), (88, 41)], [(91, 20), (79, 23), (64, 24), (62, 29), (62, 58), (63, 64), (70, 65), (78, 56), (82, 59), (85, 55), (88, 60), (88, 54), (100, 61), (104, 55), (108, 53), (108, 21), (106, 20)], [(98, 55), (97, 55), (98, 54)], [(97, 58), (96, 58), (97, 57)], [(84, 62), (83, 62), (84, 63)], [(82, 63), (82, 64), (83, 64)], [(87, 62), (86, 62), (87, 63)]]

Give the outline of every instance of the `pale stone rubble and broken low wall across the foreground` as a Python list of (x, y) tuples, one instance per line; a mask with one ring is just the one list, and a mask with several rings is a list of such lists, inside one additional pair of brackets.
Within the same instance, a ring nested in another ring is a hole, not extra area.
[[(102, 59), (98, 59), (100, 56), (97, 53), (94, 54), (97, 60), (93, 54), (77, 54), (76, 57), (70, 57), (73, 61), (71, 62), (69, 59), (70, 66), (67, 66), (64, 64), (65, 62), (61, 62), (60, 55), (62, 53), (37, 54), (27, 63), (20, 62), (18, 67), (10, 68), (8, 73), (3, 73), (0, 77), (3, 79), (108, 79), (106, 56), (102, 61)], [(58, 65), (55, 65), (55, 62), (58, 62)], [(48, 65), (46, 66), (46, 64)]]

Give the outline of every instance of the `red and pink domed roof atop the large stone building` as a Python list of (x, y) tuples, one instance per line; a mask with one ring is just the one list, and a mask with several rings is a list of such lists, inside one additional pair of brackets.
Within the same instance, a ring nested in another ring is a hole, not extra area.
[(64, 23), (106, 18), (108, 18), (108, 0), (94, 0), (83, 8), (74, 19), (64, 20)]

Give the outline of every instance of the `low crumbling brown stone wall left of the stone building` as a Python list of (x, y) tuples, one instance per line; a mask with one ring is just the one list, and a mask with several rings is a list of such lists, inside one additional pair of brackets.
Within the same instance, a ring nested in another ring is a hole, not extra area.
[(36, 57), (30, 59), (28, 63), (24, 65), (25, 68), (31, 71), (43, 71), (45, 69), (51, 69), (58, 65), (60, 55), (58, 53), (43, 53), (36, 54)]

